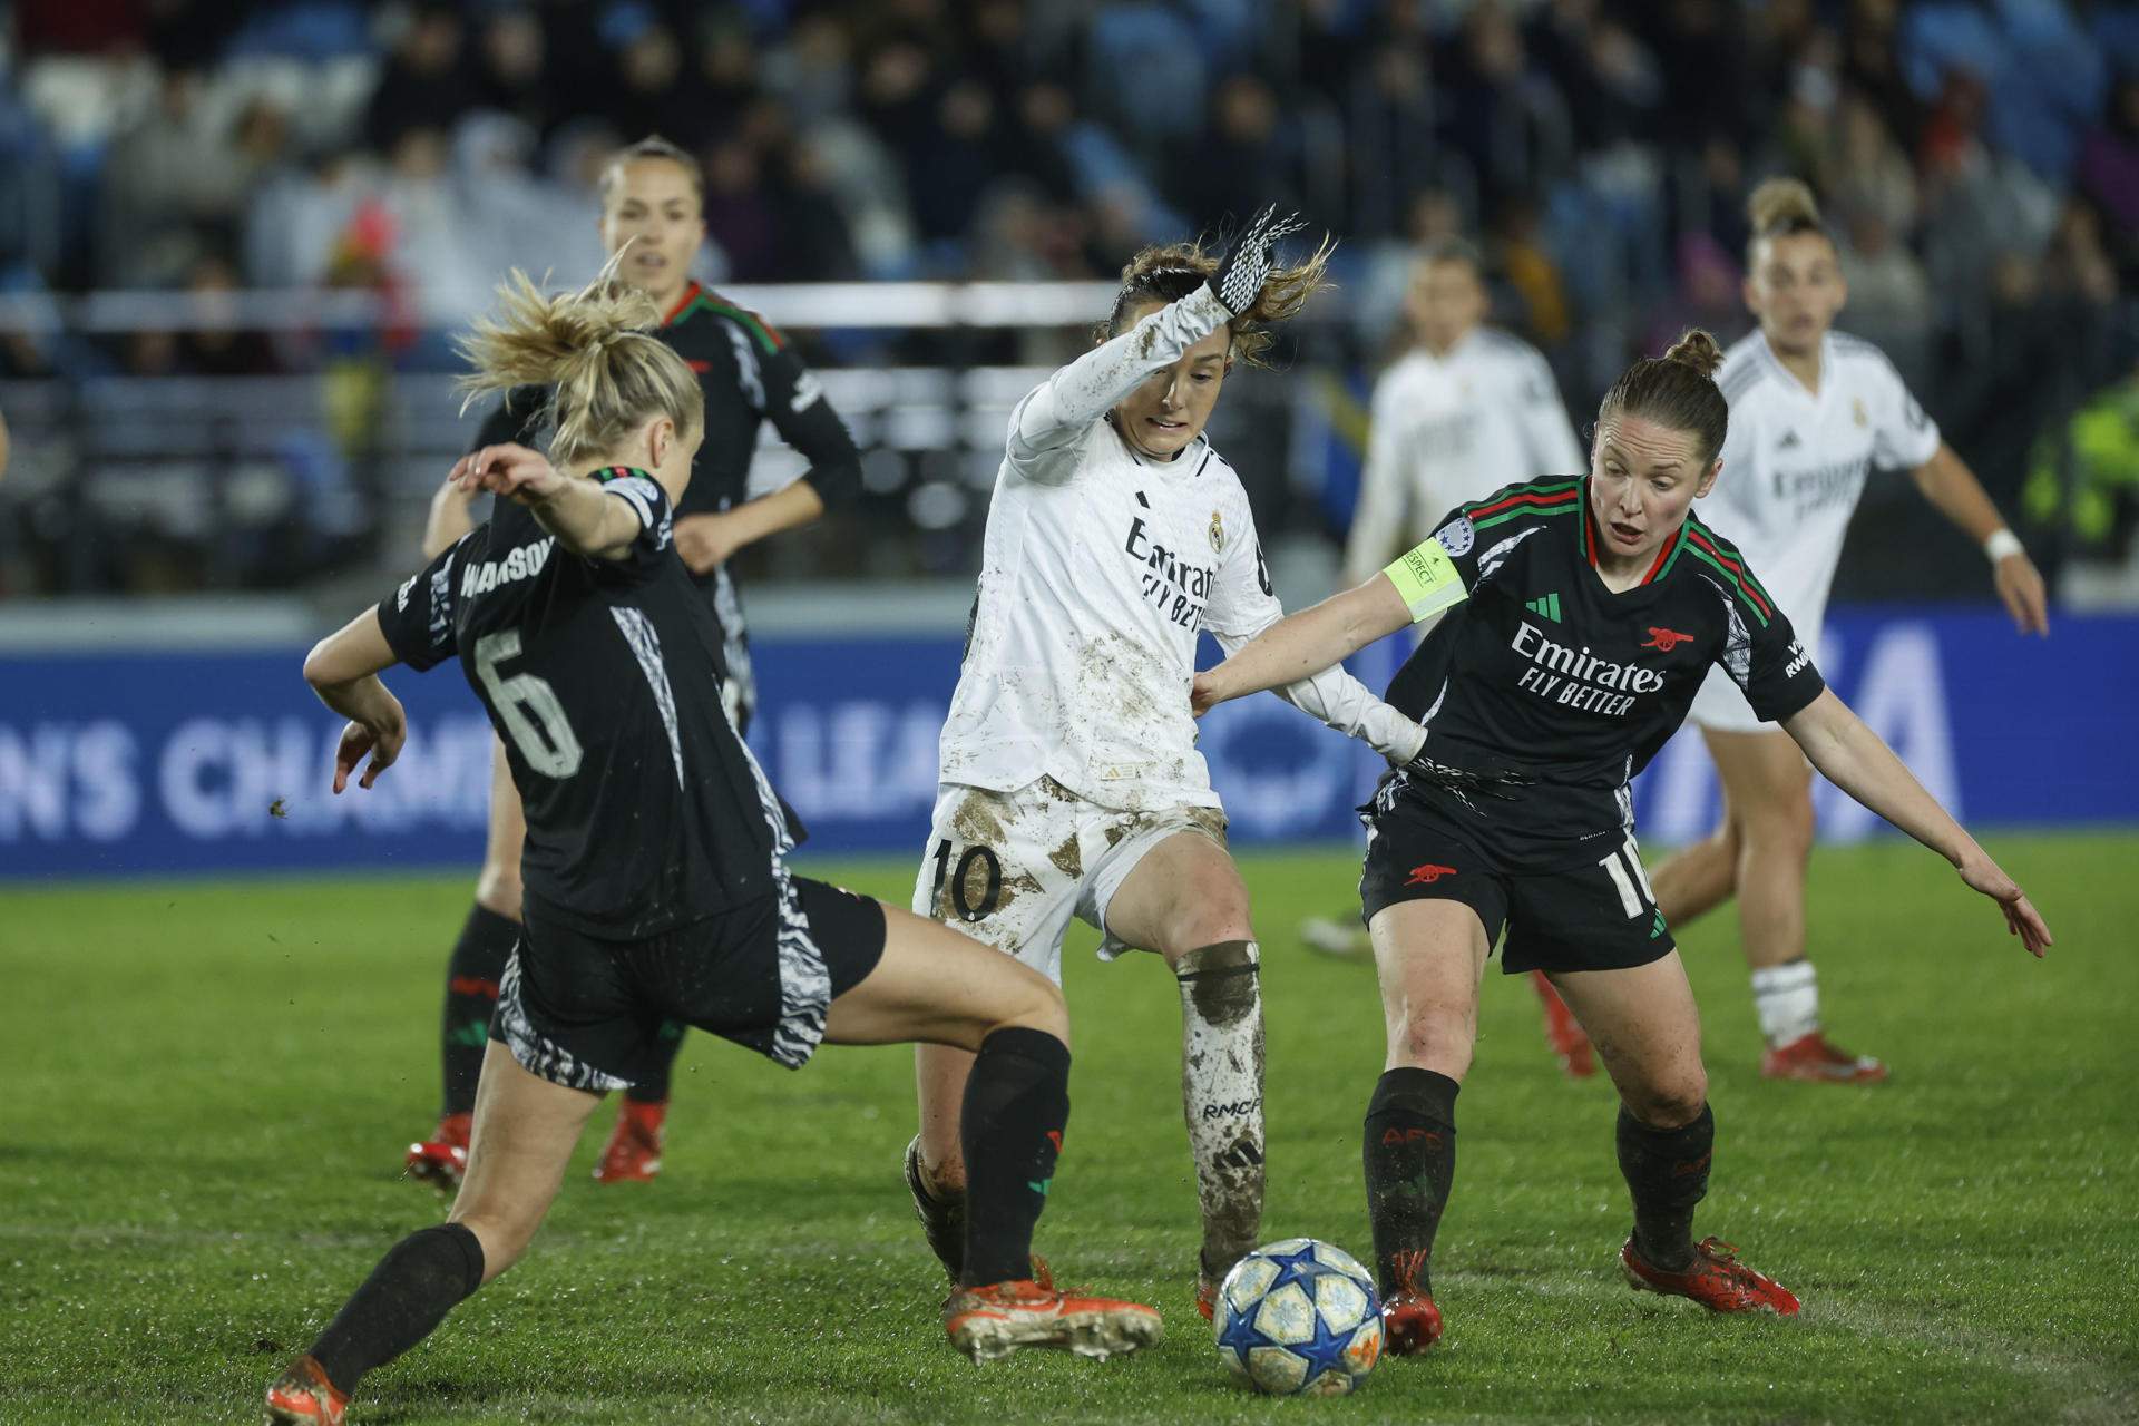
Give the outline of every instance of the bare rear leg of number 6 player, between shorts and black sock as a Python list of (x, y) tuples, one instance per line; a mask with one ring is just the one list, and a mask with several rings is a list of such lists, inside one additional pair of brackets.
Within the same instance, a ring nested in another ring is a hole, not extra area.
[(492, 1041), (475, 1090), (468, 1172), (453, 1197), (451, 1223), (483, 1244), (483, 1281), (505, 1272), (526, 1249), (601, 1095), (541, 1080)]

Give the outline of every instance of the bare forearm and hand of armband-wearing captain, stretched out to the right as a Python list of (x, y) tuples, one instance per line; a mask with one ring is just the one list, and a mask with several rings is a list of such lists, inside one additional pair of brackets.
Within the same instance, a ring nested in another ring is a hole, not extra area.
[(1961, 881), (1996, 900), (2004, 911), (2006, 930), (2019, 936), (2030, 956), (2041, 956), (2051, 945), (2049, 926), (2021, 894), (2019, 883), (1976, 847), (1976, 838), (1938, 806), (1938, 797), (1923, 789), (1893, 748), (1865, 727), (1833, 688), (1820, 693), (1782, 727), (1820, 776), (1942, 855)]

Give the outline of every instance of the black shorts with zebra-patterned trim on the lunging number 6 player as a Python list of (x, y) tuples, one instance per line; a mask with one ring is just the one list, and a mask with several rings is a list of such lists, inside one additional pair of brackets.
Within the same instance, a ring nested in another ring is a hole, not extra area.
[(772, 896), (644, 941), (603, 941), (528, 904), (498, 981), (490, 1039), (533, 1075), (575, 1090), (659, 1073), (678, 1020), (800, 1069), (834, 998), (883, 958), (883, 906), (787, 874)]

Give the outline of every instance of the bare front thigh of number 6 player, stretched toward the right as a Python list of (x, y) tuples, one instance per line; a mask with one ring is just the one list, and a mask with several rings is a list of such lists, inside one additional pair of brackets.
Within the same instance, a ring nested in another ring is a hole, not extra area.
[(990, 1030), (1029, 1026), (1070, 1039), (1061, 990), (1018, 960), (911, 911), (883, 909), (883, 956), (832, 1001), (826, 1039), (843, 1045), (930, 1041), (980, 1050)]

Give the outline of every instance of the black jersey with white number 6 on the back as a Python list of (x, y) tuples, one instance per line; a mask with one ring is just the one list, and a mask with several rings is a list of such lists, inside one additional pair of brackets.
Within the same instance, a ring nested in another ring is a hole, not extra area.
[(774, 889), (787, 827), (721, 710), (721, 629), (672, 545), (670, 500), (603, 472), (640, 520), (620, 560), (558, 547), (498, 500), (379, 605), (396, 658), (462, 671), (526, 808), (530, 906), (633, 941)]

